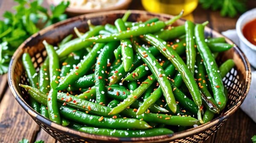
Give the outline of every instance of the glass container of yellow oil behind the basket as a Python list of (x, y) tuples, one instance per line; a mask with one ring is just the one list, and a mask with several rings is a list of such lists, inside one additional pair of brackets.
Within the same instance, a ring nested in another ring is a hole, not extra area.
[(147, 11), (177, 15), (183, 9), (190, 14), (198, 6), (198, 0), (141, 0)]

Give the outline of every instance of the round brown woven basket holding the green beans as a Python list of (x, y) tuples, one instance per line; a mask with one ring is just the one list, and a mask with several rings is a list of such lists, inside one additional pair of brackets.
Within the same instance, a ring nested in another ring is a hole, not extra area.
[[(55, 25), (49, 26), (37, 34), (34, 34), (27, 39), (12, 57), (9, 67), (8, 81), (12, 93), (18, 103), (26, 110), (26, 112), (34, 119), (39, 126), (41, 126), (49, 135), (62, 143), (202, 143), (216, 132), (223, 123), (230, 117), (241, 105), (246, 97), (251, 81), (250, 64), (241, 50), (234, 46), (232, 49), (220, 53), (217, 62), (220, 64), (227, 59), (233, 59), (236, 67), (224, 77), (224, 85), (228, 89), (227, 107), (221, 114), (209, 123), (188, 129), (183, 132), (176, 132), (171, 135), (162, 135), (154, 137), (137, 137), (137, 138), (118, 138), (100, 135), (92, 135), (84, 132), (79, 132), (56, 123), (49, 121), (42, 117), (29, 107), (28, 93), (18, 86), (18, 84), (28, 84), (26, 74), (24, 72), (21, 56), (24, 52), (28, 52), (32, 56), (32, 61), (37, 70), (44, 61), (47, 53), (42, 44), (45, 39), (49, 44), (56, 45), (68, 34), (74, 34), (73, 28), (77, 27), (79, 31), (85, 32), (88, 30), (87, 20), (91, 20), (94, 25), (104, 25), (112, 23), (123, 16), (125, 11), (109, 11), (96, 14), (87, 14), (79, 17), (74, 17), (64, 22), (59, 22)], [(129, 21), (145, 21), (153, 17), (158, 17), (160, 20), (169, 20), (172, 18), (166, 14), (152, 14), (145, 11), (132, 11)], [(175, 25), (183, 24), (183, 20), (178, 20)], [(210, 37), (220, 37), (221, 34), (213, 31), (210, 28), (205, 28), (205, 34)], [(232, 41), (226, 38), (226, 41), (233, 44)]]

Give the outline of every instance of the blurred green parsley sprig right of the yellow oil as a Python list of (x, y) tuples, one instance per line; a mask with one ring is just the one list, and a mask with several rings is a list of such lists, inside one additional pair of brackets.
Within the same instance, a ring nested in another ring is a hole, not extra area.
[(235, 17), (238, 13), (244, 13), (246, 0), (199, 0), (202, 7), (212, 10), (221, 9), (221, 16)]

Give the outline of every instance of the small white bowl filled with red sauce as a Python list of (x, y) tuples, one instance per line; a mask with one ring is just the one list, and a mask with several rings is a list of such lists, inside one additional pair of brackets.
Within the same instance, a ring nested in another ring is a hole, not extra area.
[(236, 22), (240, 48), (250, 64), (256, 68), (256, 8), (247, 11)]

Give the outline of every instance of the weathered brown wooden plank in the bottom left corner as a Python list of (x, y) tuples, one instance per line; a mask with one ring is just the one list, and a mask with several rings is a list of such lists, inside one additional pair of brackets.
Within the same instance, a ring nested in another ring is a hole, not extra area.
[(17, 143), (22, 138), (32, 142), (39, 129), (8, 89), (0, 104), (0, 143)]

